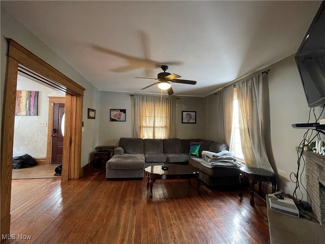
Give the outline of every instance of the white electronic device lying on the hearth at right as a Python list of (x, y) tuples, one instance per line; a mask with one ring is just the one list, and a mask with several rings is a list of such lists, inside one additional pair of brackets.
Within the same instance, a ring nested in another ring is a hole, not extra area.
[(282, 212), (283, 214), (299, 218), (299, 210), (293, 199), (283, 197), (279, 199), (275, 195), (282, 195), (282, 192), (276, 192), (269, 195), (270, 207), (272, 210)]

